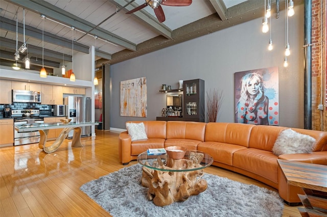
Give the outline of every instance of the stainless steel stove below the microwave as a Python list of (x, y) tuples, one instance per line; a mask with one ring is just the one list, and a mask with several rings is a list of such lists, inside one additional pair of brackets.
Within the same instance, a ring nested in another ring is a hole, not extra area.
[[(31, 125), (44, 123), (43, 117), (40, 116), (40, 110), (37, 108), (26, 110), (12, 110), (11, 117), (14, 118), (14, 125)], [(38, 130), (32, 132), (14, 131), (14, 145), (26, 145), (38, 143), (40, 141), (40, 133)]]

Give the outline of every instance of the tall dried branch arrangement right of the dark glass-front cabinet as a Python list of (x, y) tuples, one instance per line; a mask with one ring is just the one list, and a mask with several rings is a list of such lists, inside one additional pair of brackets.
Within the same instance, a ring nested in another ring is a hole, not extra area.
[(216, 122), (221, 102), (224, 98), (223, 91), (216, 88), (206, 92), (206, 107), (208, 122)]

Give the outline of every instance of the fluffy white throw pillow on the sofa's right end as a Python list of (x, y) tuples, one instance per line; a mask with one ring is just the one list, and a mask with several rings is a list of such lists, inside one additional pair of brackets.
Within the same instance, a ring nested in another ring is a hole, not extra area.
[(315, 143), (316, 140), (310, 135), (286, 129), (279, 133), (272, 151), (277, 156), (281, 154), (311, 153)]

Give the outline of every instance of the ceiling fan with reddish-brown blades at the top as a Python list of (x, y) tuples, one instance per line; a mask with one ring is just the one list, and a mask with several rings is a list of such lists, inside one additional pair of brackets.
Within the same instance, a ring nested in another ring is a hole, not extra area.
[(126, 14), (132, 14), (138, 10), (141, 10), (148, 5), (153, 8), (155, 15), (157, 16), (159, 22), (164, 22), (166, 20), (164, 10), (162, 10), (161, 5), (166, 6), (189, 6), (192, 4), (192, 0), (145, 0), (146, 3), (140, 5), (133, 10), (128, 11)]

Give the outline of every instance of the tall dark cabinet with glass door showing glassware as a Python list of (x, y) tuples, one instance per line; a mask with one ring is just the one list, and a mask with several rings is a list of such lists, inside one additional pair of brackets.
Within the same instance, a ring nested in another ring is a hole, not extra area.
[(204, 122), (204, 80), (184, 80), (183, 97), (183, 118)]

